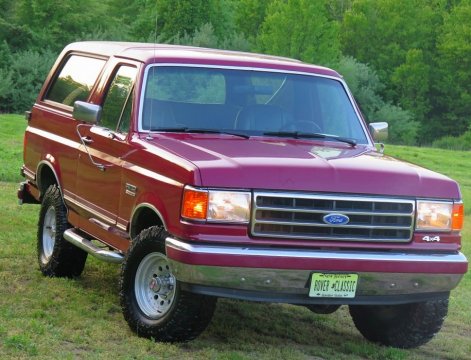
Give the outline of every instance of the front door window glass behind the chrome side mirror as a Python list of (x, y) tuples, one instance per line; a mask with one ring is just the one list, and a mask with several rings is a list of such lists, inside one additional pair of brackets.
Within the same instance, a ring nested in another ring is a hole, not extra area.
[(128, 132), (136, 74), (135, 67), (125, 65), (116, 71), (103, 103), (102, 126), (122, 133)]

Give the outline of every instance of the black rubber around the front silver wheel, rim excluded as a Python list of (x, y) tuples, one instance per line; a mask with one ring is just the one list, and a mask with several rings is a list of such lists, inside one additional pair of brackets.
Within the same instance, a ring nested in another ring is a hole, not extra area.
[(134, 294), (134, 278), (141, 260), (151, 252), (165, 254), (167, 236), (162, 227), (153, 226), (133, 240), (121, 267), (121, 308), (129, 327), (138, 336), (161, 342), (184, 342), (206, 329), (216, 307), (216, 297), (183, 291), (177, 281), (171, 309), (160, 319), (150, 319), (140, 310)]

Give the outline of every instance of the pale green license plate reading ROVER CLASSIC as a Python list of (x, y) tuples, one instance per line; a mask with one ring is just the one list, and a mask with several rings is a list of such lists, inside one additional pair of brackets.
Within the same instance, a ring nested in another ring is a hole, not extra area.
[(310, 297), (354, 298), (358, 274), (320, 274), (311, 277)]

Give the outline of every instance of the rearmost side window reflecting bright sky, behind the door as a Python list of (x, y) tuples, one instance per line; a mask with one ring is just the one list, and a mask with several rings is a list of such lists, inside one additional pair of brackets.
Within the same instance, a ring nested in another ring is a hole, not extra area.
[(73, 106), (77, 100), (86, 101), (105, 60), (72, 55), (60, 69), (45, 100)]

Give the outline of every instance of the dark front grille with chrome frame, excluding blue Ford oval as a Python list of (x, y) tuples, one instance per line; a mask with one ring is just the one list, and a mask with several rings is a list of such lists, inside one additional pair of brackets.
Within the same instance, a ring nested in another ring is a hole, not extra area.
[[(255, 192), (251, 231), (286, 239), (408, 242), (414, 211), (415, 201), (407, 199)], [(329, 224), (329, 214), (349, 221)]]

